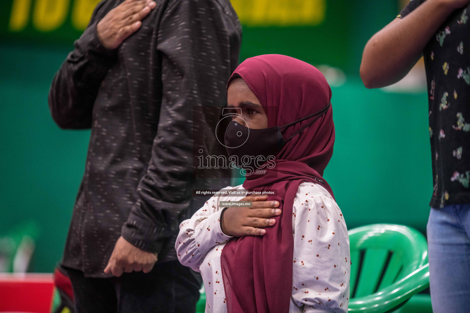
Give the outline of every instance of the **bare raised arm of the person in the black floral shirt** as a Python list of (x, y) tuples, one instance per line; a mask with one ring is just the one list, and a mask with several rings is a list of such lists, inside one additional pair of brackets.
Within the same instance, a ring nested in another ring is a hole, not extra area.
[[(396, 18), (369, 39), (362, 53), (360, 76), (367, 88), (398, 82), (420, 59), (423, 49), (446, 18), (469, 0), (413, 0)], [(421, 4), (422, 3), (422, 4)]]

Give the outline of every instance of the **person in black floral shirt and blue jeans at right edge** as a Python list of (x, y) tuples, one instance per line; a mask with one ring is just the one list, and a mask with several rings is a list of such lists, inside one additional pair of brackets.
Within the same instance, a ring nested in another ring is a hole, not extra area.
[(434, 313), (470, 312), (469, 0), (412, 0), (367, 43), (368, 88), (393, 84), (424, 57), (433, 192), (427, 225)]

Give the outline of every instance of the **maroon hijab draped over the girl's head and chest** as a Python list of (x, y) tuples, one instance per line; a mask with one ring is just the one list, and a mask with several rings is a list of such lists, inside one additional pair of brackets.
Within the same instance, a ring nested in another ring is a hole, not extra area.
[[(282, 126), (320, 111), (329, 104), (331, 89), (321, 72), (303, 61), (280, 54), (243, 61), (237, 74), (258, 97), (268, 127)], [(236, 75), (235, 75), (236, 76)], [(312, 118), (314, 119), (314, 117)], [(290, 137), (311, 119), (283, 129)], [(262, 138), (259, 138), (262, 140)], [(264, 176), (248, 176), (247, 190), (277, 190), (282, 214), (262, 237), (233, 238), (222, 250), (221, 265), (228, 313), (287, 313), (292, 294), (292, 206), (302, 182), (320, 183), (333, 154), (335, 127), (332, 109), (287, 142), (276, 156), (276, 167)], [(271, 173), (269, 173), (271, 171)], [(269, 175), (275, 174), (275, 175)]]

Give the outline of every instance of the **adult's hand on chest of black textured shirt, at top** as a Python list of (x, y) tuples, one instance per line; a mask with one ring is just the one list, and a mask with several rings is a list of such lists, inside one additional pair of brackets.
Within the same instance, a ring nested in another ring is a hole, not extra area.
[(156, 7), (152, 0), (125, 0), (96, 25), (98, 39), (108, 49), (116, 49), (142, 25), (142, 19)]

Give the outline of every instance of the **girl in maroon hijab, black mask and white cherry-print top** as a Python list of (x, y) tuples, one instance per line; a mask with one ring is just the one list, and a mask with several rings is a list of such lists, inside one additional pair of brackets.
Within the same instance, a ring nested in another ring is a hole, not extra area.
[(203, 277), (206, 312), (347, 312), (349, 237), (322, 177), (335, 140), (330, 99), (318, 69), (285, 55), (249, 58), (230, 77), (225, 145), (248, 175), (225, 190), (264, 191), (278, 209), (225, 208), (219, 201), (244, 196), (223, 193), (180, 224), (175, 248)]

